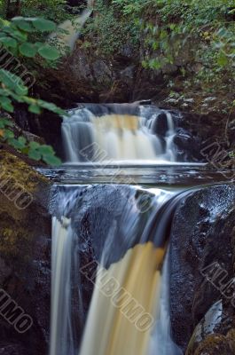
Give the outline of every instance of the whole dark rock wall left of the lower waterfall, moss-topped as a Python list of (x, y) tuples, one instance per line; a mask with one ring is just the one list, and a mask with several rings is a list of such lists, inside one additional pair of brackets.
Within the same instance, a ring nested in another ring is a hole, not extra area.
[(2, 317), (1, 308), (0, 354), (44, 355), (48, 353), (51, 302), (50, 184), (12, 154), (1, 152), (0, 164), (1, 300), (4, 290), (33, 320), (20, 334), (15, 322)]

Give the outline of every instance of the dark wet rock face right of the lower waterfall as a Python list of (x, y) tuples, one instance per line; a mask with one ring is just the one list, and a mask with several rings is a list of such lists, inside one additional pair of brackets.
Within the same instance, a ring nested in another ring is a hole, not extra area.
[[(217, 263), (226, 271), (223, 284), (234, 276), (234, 200), (233, 185), (211, 186), (192, 193), (176, 210), (170, 245), (170, 312), (173, 337), (184, 350), (193, 329), (220, 299), (222, 319), (214, 329), (215, 334), (226, 336), (235, 327), (235, 312), (230, 299), (223, 296), (222, 288), (215, 288), (202, 273), (206, 267)], [(205, 340), (205, 347), (208, 346), (205, 337), (211, 333), (203, 332), (201, 341)], [(215, 349), (220, 349), (216, 346)], [(221, 346), (224, 348), (225, 345)], [(197, 342), (192, 349), (198, 352), (193, 350), (189, 354), (215, 353), (203, 352), (202, 344), (198, 348)]]

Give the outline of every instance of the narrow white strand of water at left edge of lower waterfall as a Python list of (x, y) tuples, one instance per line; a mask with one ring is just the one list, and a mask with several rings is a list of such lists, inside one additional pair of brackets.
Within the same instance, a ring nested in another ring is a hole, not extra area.
[(71, 324), (71, 258), (73, 233), (69, 219), (52, 220), (50, 355), (73, 355)]

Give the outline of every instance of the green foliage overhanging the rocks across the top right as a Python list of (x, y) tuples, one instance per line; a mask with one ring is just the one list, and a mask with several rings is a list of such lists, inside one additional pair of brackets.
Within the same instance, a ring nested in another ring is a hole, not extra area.
[(190, 57), (200, 64), (195, 81), (216, 82), (225, 71), (234, 77), (234, 0), (98, 0), (96, 12), (84, 31), (87, 48), (89, 36), (105, 55), (141, 43), (145, 68), (176, 65), (187, 76)]

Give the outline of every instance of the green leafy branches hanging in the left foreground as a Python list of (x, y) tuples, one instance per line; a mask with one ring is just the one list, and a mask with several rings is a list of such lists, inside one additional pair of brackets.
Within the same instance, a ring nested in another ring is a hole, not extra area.
[[(40, 62), (51, 62), (51, 60), (59, 59), (59, 51), (51, 47), (47, 43), (35, 42), (29, 40), (29, 36), (37, 33), (50, 32), (56, 29), (56, 25), (51, 20), (43, 18), (23, 18), (17, 17), (12, 21), (0, 19), (0, 44), (1, 59), (6, 59), (6, 63), (0, 68), (0, 109), (1, 111), (13, 113), (15, 102), (27, 104), (28, 111), (34, 114), (41, 114), (43, 109), (50, 110), (56, 114), (65, 114), (58, 106), (43, 101), (42, 99), (34, 99), (29, 95), (27, 84), (24, 83), (23, 77), (26, 74), (20, 60), (34, 59)], [(14, 60), (16, 60), (14, 62)], [(6, 70), (6, 67), (8, 70)], [(20, 69), (22, 72), (20, 72)], [(30, 74), (30, 73), (29, 73)], [(15, 138), (13, 130), (11, 130), (12, 122), (0, 117), (0, 139), (7, 144), (20, 150), (22, 153), (36, 161), (51, 165), (59, 164), (51, 146), (40, 146), (35, 142), (27, 142), (26, 138)], [(35, 144), (34, 144), (35, 143)]]

